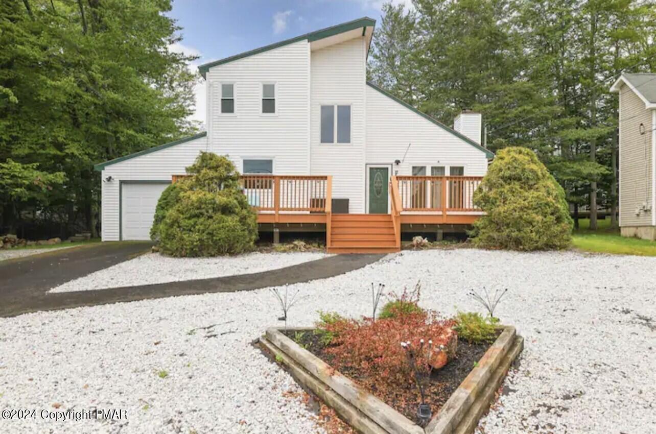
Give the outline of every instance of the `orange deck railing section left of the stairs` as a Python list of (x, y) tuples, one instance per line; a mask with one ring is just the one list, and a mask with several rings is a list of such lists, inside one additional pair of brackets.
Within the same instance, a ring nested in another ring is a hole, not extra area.
[[(173, 175), (176, 182), (188, 175)], [(251, 207), (274, 212), (331, 212), (332, 176), (242, 175)]]

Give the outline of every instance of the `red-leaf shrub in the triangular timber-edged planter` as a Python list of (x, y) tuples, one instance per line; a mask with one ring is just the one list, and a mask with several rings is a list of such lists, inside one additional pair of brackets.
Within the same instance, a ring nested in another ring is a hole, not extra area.
[[(332, 356), (333, 367), (340, 372), (358, 374), (361, 384), (375, 387), (382, 393), (384, 388), (395, 388), (413, 383), (413, 371), (407, 362), (401, 342), (419, 346), (420, 340), (439, 349), (447, 346), (455, 335), (453, 321), (440, 319), (433, 312), (418, 311), (398, 317), (372, 321), (344, 319), (326, 329), (333, 332), (331, 346), (325, 352)], [(427, 346), (427, 345), (426, 345)], [(419, 364), (428, 370), (430, 354), (424, 351)]]

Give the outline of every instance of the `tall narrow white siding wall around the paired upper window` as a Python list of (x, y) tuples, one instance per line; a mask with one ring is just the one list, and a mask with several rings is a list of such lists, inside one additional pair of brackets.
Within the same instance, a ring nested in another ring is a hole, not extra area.
[[(333, 198), (348, 198), (351, 213), (365, 212), (365, 38), (312, 51), (310, 172), (333, 175)], [(351, 106), (351, 143), (321, 143), (321, 106)]]

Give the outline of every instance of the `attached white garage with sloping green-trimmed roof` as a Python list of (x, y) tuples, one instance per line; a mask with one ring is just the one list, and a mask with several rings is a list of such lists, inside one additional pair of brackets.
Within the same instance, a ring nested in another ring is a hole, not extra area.
[(102, 181), (102, 241), (150, 240), (159, 196), (201, 151), (207, 151), (205, 132), (96, 165)]

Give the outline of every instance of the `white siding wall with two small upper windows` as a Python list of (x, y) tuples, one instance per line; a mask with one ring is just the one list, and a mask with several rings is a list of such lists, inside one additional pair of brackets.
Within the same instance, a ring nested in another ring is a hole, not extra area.
[[(210, 68), (207, 72), (213, 152), (229, 155), (237, 169), (244, 158), (270, 158), (277, 174), (308, 174), (310, 46), (298, 41)], [(221, 84), (234, 84), (235, 113), (220, 113)], [(262, 114), (262, 84), (276, 85), (276, 114)]]

